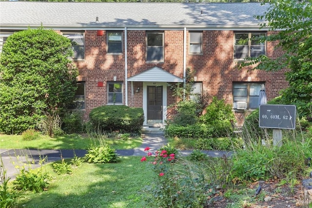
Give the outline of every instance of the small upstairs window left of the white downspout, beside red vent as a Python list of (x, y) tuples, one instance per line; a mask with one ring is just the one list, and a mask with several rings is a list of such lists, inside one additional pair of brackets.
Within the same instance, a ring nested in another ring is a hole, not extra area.
[(107, 53), (122, 53), (122, 32), (107, 32)]

